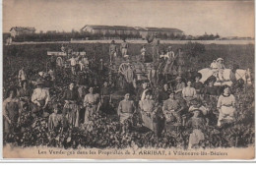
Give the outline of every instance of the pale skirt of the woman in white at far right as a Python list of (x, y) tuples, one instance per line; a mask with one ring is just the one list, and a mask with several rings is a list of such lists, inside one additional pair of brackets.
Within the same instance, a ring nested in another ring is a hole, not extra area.
[(233, 121), (234, 120), (234, 112), (235, 112), (235, 109), (232, 106), (222, 106), (217, 125), (221, 126), (222, 122), (224, 122), (224, 121), (226, 121), (226, 122)]

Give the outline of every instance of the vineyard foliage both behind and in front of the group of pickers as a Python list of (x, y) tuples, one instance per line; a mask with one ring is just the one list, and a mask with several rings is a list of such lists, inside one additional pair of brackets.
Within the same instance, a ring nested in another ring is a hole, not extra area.
[[(82, 44), (72, 43), (74, 51), (87, 51), (90, 59), (94, 62), (94, 68), (98, 68), (99, 59), (103, 59), (108, 63), (108, 46), (109, 44), (94, 43), (94, 44)], [(220, 45), (209, 44), (203, 45), (198, 43), (188, 44), (161, 44), (160, 50), (166, 49), (168, 45), (173, 47), (176, 52), (178, 48), (183, 48), (186, 55), (186, 68), (199, 70), (209, 67), (214, 59), (219, 57), (224, 58), (224, 64), (226, 67), (233, 64), (239, 65), (242, 69), (250, 68), (254, 72), (254, 45)], [(10, 45), (4, 46), (3, 49), (3, 88), (4, 94), (6, 89), (10, 86), (17, 85), (18, 71), (22, 65), (25, 65), (29, 70), (29, 78), (33, 80), (33, 76), (39, 71), (45, 71), (45, 65), (49, 57), (46, 55), (47, 51), (60, 51), (61, 44), (23, 44), (23, 45)], [(141, 44), (130, 44), (129, 55), (139, 55)], [(151, 56), (151, 46), (146, 45), (147, 56)], [(63, 92), (63, 88), (67, 86), (68, 81), (64, 81), (63, 77), (59, 77), (62, 82), (60, 86), (52, 91), (51, 97), (60, 98), (60, 93)], [(221, 129), (209, 126), (205, 129), (205, 142), (204, 147), (231, 147), (231, 146), (248, 146), (254, 142), (254, 87), (250, 86), (247, 90), (235, 91), (235, 96), (239, 98), (237, 102), (238, 117), (235, 124), (225, 126)], [(216, 106), (214, 106), (216, 107)], [(212, 108), (214, 109), (214, 108)], [(55, 134), (49, 135), (47, 127), (40, 125), (41, 122), (47, 120), (36, 118), (35, 124), (38, 129), (28, 128), (19, 137), (11, 136), (10, 142), (17, 142), (17, 145), (31, 146), (31, 145), (48, 145), (62, 147), (62, 142), (54, 141)], [(180, 130), (176, 134), (166, 134), (162, 138), (152, 138), (152, 132), (138, 133), (136, 131), (131, 132), (127, 138), (124, 138), (119, 132), (120, 128), (118, 121), (110, 121), (105, 118), (96, 120), (94, 131), (87, 132), (83, 130), (72, 131), (72, 141), (68, 143), (67, 147), (81, 146), (95, 146), (95, 147), (117, 147), (125, 148), (131, 146), (131, 142), (135, 142), (139, 147), (154, 146), (154, 147), (186, 147), (189, 139), (189, 132), (184, 129)], [(104, 125), (110, 127), (106, 130)], [(112, 128), (112, 129), (111, 129)], [(105, 132), (101, 130), (104, 129)], [(113, 133), (116, 132), (116, 133)], [(49, 141), (47, 136), (52, 136)], [(67, 139), (69, 133), (61, 134), (61, 139)], [(53, 138), (54, 137), (54, 138)], [(16, 140), (14, 140), (16, 139)], [(18, 139), (18, 140), (17, 140)], [(53, 139), (53, 140), (52, 140)], [(65, 142), (64, 142), (65, 143)], [(74, 145), (73, 145), (74, 144)]]

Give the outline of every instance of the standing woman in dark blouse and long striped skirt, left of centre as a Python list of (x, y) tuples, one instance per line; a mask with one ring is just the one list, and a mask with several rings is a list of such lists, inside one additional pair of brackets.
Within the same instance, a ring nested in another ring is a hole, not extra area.
[(66, 115), (70, 127), (79, 126), (79, 108), (78, 100), (79, 93), (75, 89), (75, 84), (71, 83), (69, 88), (64, 92), (63, 99), (65, 100), (65, 105), (63, 108), (63, 114)]

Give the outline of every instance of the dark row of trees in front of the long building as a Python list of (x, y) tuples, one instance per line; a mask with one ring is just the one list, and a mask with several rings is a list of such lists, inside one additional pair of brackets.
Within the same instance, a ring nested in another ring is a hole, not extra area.
[[(5, 35), (8, 33), (5, 33)], [(10, 33), (9, 33), (10, 36)], [(220, 35), (217, 33), (207, 34), (200, 36), (192, 36), (185, 34), (174, 34), (174, 33), (159, 33), (158, 37), (160, 39), (170, 39), (170, 40), (214, 40), (220, 38)], [(66, 31), (46, 31), (38, 33), (26, 33), (20, 34), (13, 37), (13, 41), (23, 42), (23, 41), (70, 41), (73, 40), (96, 40), (96, 39), (144, 39), (139, 31), (130, 32), (130, 33), (120, 33), (115, 31), (114, 33), (106, 31), (105, 33), (96, 32), (91, 33), (87, 31), (75, 31), (71, 32)], [(145, 38), (147, 39), (147, 38)]]

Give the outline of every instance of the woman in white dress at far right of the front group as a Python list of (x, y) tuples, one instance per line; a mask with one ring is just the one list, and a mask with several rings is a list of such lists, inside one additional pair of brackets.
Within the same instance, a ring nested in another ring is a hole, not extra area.
[(230, 94), (228, 86), (224, 87), (224, 93), (220, 95), (217, 103), (217, 109), (220, 112), (218, 126), (222, 126), (223, 122), (232, 122), (235, 113), (235, 97)]

